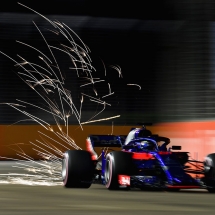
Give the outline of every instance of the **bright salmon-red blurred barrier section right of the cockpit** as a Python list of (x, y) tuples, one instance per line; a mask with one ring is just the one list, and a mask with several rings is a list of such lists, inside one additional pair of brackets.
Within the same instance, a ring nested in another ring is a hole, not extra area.
[(215, 153), (215, 121), (161, 123), (155, 131), (170, 138), (170, 145), (181, 145), (182, 151), (202, 161), (207, 154)]

